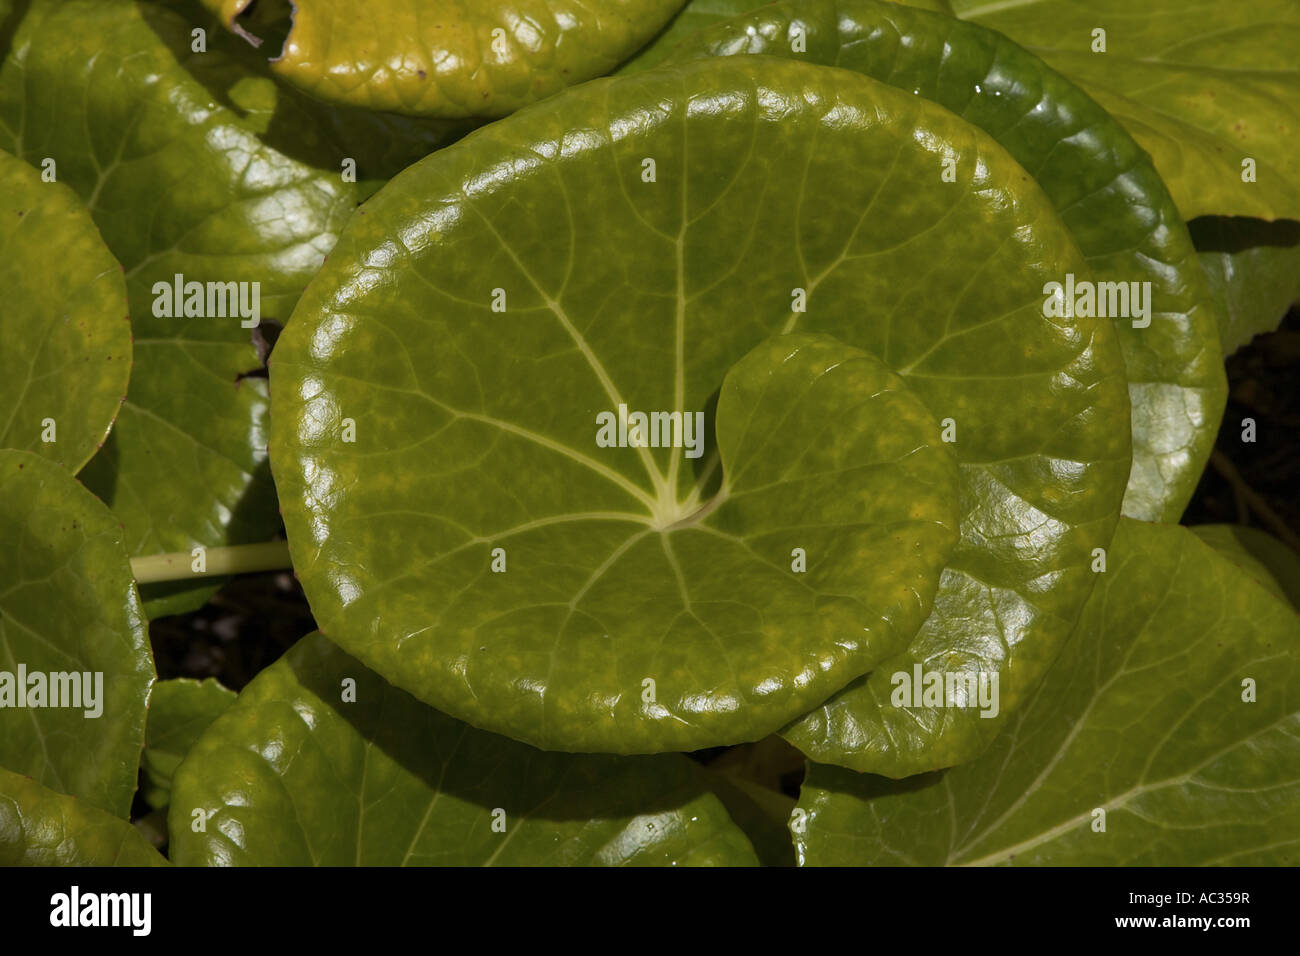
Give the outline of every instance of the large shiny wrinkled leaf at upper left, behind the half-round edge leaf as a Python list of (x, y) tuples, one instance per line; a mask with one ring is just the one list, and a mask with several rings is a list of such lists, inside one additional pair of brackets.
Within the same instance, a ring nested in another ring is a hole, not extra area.
[[(251, 329), (233, 308), (160, 316), (155, 286), (257, 282), (261, 319), (285, 320), (356, 189), (338, 160), (321, 169), (265, 144), (265, 104), (235, 105), (256, 77), (191, 43), (190, 25), (152, 4), (36, 0), (0, 70), (0, 147), (52, 157), (126, 269), (135, 367), (84, 480), (133, 555), (259, 541), (278, 522), (265, 381), (240, 378), (260, 365)], [(186, 610), (211, 589), (150, 588), (147, 606)]]

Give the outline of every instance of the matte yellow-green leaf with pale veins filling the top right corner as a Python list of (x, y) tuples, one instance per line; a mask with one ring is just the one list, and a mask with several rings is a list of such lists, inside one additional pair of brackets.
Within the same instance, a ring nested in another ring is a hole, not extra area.
[(1295, 0), (902, 1), (998, 30), (1075, 81), (1152, 155), (1187, 219), (1300, 219)]

